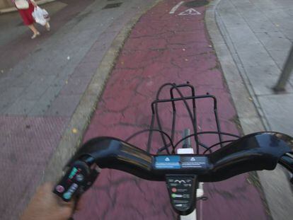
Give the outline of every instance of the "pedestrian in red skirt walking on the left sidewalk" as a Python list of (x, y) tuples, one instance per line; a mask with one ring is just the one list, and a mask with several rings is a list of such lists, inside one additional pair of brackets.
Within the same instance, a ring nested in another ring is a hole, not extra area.
[[(12, 0), (13, 3), (16, 5), (16, 8), (18, 9), (18, 12), (21, 14), (21, 18), (23, 18), (23, 23), (30, 28), (30, 30), (33, 31), (33, 36), (31, 37), (34, 39), (38, 35), (40, 35), (40, 32), (35, 28), (35, 19), (33, 18), (33, 11), (38, 6), (34, 0)], [(49, 22), (45, 23), (45, 28), (49, 31), (50, 30), (50, 24)]]

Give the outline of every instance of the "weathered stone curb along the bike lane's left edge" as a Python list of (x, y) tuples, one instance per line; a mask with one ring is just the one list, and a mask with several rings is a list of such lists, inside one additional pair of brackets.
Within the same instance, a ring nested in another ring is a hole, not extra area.
[[(93, 79), (91, 79), (88, 88), (81, 97), (79, 105), (77, 106), (74, 115), (72, 115), (67, 129), (65, 129), (62, 135), (62, 139), (59, 141), (59, 145), (54, 151), (54, 155), (48, 162), (47, 168), (42, 175), (41, 183), (57, 181), (59, 176), (62, 175), (61, 168), (64, 167), (65, 163), (69, 161), (69, 158), (73, 156), (76, 149), (79, 147), (79, 144), (81, 144), (84, 132), (91, 121), (93, 112), (96, 110), (96, 105), (100, 95), (103, 93), (103, 88), (113, 70), (115, 60), (120, 54), (120, 50), (130, 34), (130, 31), (137, 21), (139, 21), (139, 18), (146, 13), (146, 11), (149, 11), (150, 8), (156, 6), (160, 1), (161, 0), (156, 0), (154, 4), (146, 6), (145, 9), (139, 11), (137, 15), (131, 18), (127, 25), (120, 30), (120, 33), (113, 40), (112, 45), (100, 62), (96, 74), (93, 75)], [(77, 130), (76, 134), (72, 132), (73, 129)]]

